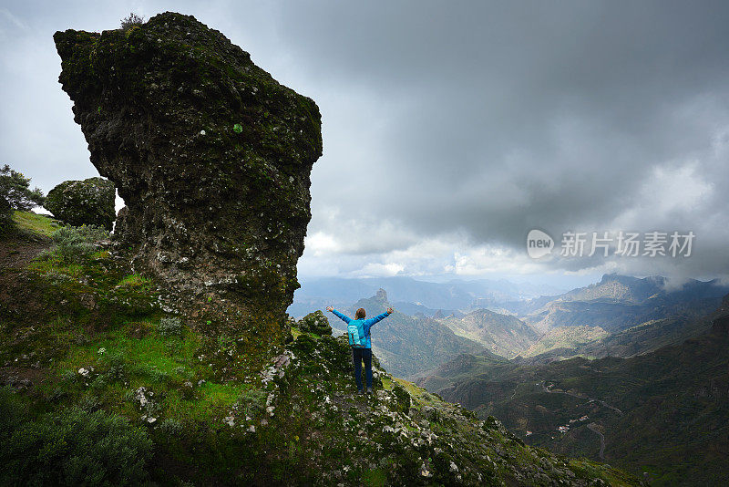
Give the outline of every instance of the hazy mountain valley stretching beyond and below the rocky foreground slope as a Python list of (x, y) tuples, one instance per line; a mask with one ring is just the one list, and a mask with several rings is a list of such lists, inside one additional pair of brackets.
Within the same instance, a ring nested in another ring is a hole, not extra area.
[[(656, 485), (724, 482), (729, 353), (716, 324), (727, 293), (718, 282), (670, 288), (660, 277), (605, 275), (562, 295), (499, 304), (512, 314), (421, 302), (411, 309), (432, 316), (397, 314), (373, 329), (375, 354), (534, 446), (607, 461)], [(381, 289), (347, 309), (379, 313), (386, 298)]]

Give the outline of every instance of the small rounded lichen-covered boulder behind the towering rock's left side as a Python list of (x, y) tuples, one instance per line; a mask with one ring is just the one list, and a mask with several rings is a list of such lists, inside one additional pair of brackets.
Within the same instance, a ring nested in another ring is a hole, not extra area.
[(103, 178), (63, 181), (48, 192), (43, 206), (65, 223), (97, 225), (110, 231), (117, 217), (116, 194), (114, 183)]

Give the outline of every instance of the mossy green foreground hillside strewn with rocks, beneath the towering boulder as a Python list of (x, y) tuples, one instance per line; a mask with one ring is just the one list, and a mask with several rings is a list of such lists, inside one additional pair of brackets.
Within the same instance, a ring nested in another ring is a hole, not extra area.
[(164, 311), (122, 250), (54, 237), (0, 270), (4, 484), (640, 483), (382, 369), (359, 396), (341, 338), (293, 329), (270, 361), (240, 355), (243, 337)]

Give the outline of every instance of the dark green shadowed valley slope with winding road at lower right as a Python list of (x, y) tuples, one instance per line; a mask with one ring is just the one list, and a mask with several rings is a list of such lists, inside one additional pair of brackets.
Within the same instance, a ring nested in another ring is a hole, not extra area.
[(530, 444), (645, 471), (657, 485), (726, 483), (727, 316), (729, 296), (706, 318), (714, 333), (638, 357), (539, 366), (464, 356), (417, 382)]

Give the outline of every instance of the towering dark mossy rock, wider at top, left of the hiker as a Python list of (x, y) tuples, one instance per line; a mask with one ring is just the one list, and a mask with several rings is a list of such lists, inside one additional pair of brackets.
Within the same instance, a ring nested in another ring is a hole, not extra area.
[(322, 154), (313, 100), (192, 16), (54, 39), (91, 162), (126, 202), (116, 233), (135, 268), (200, 324), (281, 337)]

